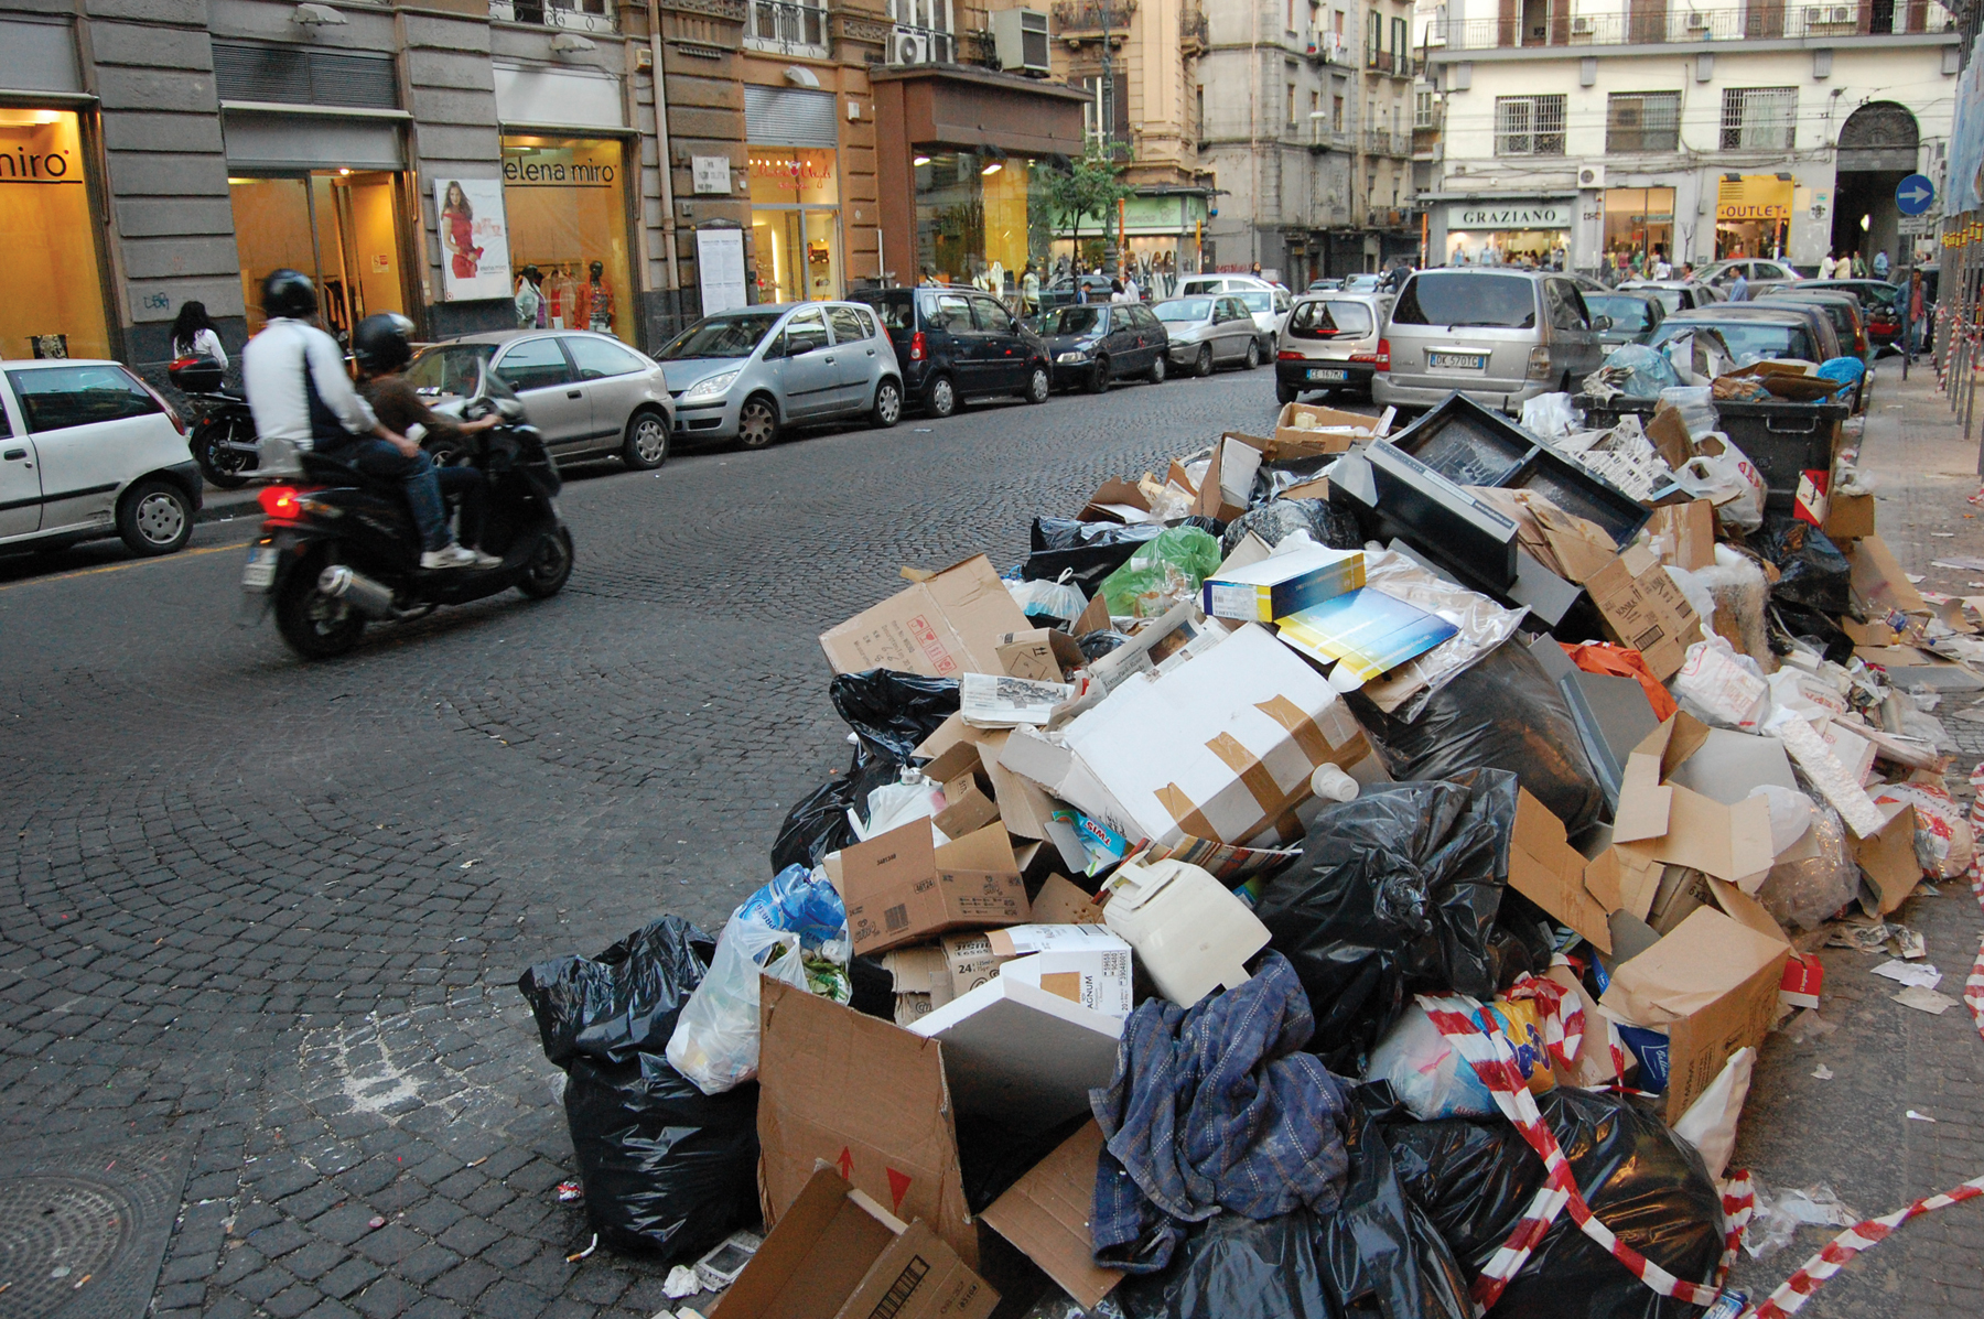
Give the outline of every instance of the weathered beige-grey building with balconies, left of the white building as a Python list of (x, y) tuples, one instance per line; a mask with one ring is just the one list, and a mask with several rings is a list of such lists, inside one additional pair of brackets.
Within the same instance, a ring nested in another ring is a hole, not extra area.
[(1194, 95), (1220, 270), (1302, 288), (1417, 254), (1407, 0), (1208, 0)]

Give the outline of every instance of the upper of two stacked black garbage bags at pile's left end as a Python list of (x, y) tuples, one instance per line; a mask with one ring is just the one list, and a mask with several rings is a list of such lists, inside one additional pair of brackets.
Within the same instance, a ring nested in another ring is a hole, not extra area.
[(538, 962), (516, 988), (552, 1063), (565, 1067), (581, 1055), (627, 1063), (669, 1047), (675, 1018), (714, 952), (714, 938), (681, 916), (663, 916), (597, 958)]

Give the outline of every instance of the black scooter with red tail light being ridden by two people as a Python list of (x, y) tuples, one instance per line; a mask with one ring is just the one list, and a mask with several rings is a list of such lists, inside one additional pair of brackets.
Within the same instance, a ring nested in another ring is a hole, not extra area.
[(490, 482), (482, 549), (496, 567), (423, 569), (421, 536), (399, 480), (302, 454), (304, 482), (262, 490), (262, 536), (242, 569), (242, 625), (274, 609), (276, 631), (304, 659), (343, 655), (367, 623), (419, 619), (516, 587), (548, 599), (571, 577), (571, 532), (558, 516), (558, 462), (524, 405), (486, 367), (462, 417), (504, 422), (466, 436), (466, 460)]

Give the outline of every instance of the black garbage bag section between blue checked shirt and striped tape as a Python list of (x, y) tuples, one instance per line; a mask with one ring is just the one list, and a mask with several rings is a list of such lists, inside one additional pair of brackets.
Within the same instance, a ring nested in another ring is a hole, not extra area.
[(1474, 1319), (1468, 1275), (1432, 1216), (1405, 1194), (1377, 1119), (1411, 1121), (1383, 1081), (1351, 1095), (1351, 1180), (1317, 1224), (1315, 1258), (1337, 1311), (1383, 1319)]

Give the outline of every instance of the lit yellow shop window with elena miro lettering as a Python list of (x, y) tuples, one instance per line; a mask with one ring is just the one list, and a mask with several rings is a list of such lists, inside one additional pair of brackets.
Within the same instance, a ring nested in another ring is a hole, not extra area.
[[(510, 272), (536, 266), (550, 329), (629, 337), (627, 179), (619, 139), (502, 139)], [(593, 266), (599, 280), (593, 282)]]

